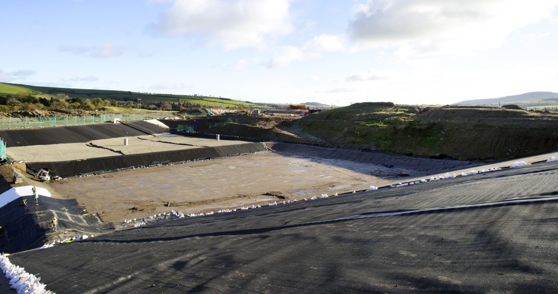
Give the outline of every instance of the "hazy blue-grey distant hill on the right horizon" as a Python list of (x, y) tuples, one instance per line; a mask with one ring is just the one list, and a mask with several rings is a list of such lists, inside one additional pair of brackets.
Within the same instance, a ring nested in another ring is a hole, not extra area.
[(554, 92), (529, 92), (500, 98), (465, 100), (457, 105), (487, 105), (496, 106), (502, 104), (517, 104), (523, 108), (555, 106), (558, 105), (558, 93)]

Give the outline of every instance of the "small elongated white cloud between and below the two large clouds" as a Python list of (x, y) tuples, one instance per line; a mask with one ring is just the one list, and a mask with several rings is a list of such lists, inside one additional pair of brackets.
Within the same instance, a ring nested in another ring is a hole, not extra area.
[(270, 62), (270, 67), (286, 66), (295, 61), (319, 57), (323, 52), (343, 50), (345, 50), (344, 36), (323, 33), (320, 36), (314, 36), (312, 40), (307, 41), (300, 47), (282, 46), (281, 54), (273, 57)]

